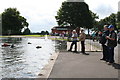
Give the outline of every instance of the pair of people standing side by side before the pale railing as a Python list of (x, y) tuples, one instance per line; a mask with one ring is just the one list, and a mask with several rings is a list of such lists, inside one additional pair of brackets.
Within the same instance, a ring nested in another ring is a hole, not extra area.
[[(78, 39), (78, 36), (80, 37), (79, 39)], [(84, 30), (82, 29), (81, 33), (79, 35), (77, 34), (76, 30), (73, 30), (71, 37), (72, 37), (72, 43), (71, 43), (70, 49), (68, 51), (72, 51), (73, 45), (75, 45), (74, 52), (77, 53), (77, 42), (81, 41), (81, 52), (85, 55), (89, 55), (89, 54), (85, 53), (86, 34), (84, 33)]]

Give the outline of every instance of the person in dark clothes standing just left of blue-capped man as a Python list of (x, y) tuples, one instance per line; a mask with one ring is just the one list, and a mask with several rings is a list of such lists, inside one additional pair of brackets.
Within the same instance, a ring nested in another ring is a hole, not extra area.
[(99, 43), (102, 44), (103, 57), (100, 60), (108, 61), (108, 48), (105, 44), (107, 39), (106, 36), (109, 35), (108, 25), (104, 25), (104, 31), (100, 37)]

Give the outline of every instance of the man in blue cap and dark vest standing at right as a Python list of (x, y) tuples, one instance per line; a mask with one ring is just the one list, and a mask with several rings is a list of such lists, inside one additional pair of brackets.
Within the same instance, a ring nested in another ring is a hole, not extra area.
[(117, 34), (114, 31), (114, 26), (110, 25), (109, 27), (109, 36), (106, 36), (108, 42), (107, 42), (107, 47), (108, 47), (108, 65), (111, 65), (114, 63), (114, 48), (117, 46)]

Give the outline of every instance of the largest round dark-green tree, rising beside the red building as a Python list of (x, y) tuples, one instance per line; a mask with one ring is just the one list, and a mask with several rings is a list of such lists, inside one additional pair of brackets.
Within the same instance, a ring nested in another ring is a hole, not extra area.
[(92, 28), (92, 16), (85, 2), (63, 2), (55, 16), (58, 25), (70, 25), (71, 27)]

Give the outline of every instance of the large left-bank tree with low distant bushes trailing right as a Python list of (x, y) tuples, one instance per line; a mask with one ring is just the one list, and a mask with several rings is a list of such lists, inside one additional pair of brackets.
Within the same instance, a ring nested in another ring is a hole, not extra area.
[(48, 35), (48, 31), (32, 33), (27, 19), (20, 15), (17, 8), (7, 8), (2, 16), (2, 35)]

